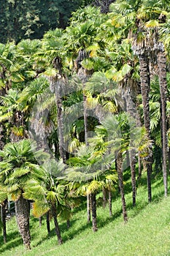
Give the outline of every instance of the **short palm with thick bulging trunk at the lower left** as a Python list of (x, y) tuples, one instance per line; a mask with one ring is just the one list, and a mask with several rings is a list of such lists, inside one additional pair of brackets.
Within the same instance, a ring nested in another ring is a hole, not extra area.
[[(15, 200), (15, 212), (20, 235), (26, 249), (31, 249), (31, 236), (29, 230), (28, 200), (23, 197), (26, 181), (31, 177), (39, 178), (39, 165), (36, 165), (35, 157), (45, 157), (43, 151), (35, 151), (36, 144), (30, 140), (20, 140), (18, 143), (7, 143), (4, 150), (0, 151), (1, 187), (7, 189), (7, 194)], [(33, 153), (34, 149), (34, 153)]]

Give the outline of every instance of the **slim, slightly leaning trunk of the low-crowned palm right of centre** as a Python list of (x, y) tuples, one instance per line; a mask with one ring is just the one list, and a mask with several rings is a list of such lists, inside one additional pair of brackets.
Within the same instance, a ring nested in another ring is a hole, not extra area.
[(125, 206), (125, 193), (124, 193), (124, 186), (123, 186), (123, 157), (122, 153), (117, 153), (117, 174), (118, 174), (118, 180), (119, 180), (119, 187), (120, 187), (120, 195), (122, 199), (122, 207), (123, 207), (123, 219), (124, 222), (128, 221), (128, 216), (126, 212), (126, 206)]

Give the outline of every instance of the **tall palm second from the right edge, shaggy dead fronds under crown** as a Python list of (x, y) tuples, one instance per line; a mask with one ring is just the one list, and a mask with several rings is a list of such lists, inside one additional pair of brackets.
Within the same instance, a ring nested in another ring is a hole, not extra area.
[[(142, 103), (144, 113), (144, 127), (147, 130), (148, 139), (150, 139), (150, 108), (149, 108), (149, 93), (150, 93), (150, 68), (149, 68), (149, 56), (150, 56), (150, 39), (148, 38), (147, 28), (144, 26), (144, 20), (137, 15), (139, 7), (142, 6), (142, 1), (126, 1), (118, 0), (112, 4), (112, 10), (115, 13), (113, 23), (120, 23), (120, 20), (124, 19), (128, 25), (128, 31), (126, 31), (126, 37), (132, 37), (132, 48), (134, 54), (139, 58), (140, 67), (140, 86), (142, 92)], [(115, 8), (115, 9), (114, 9)], [(120, 12), (120, 13), (119, 13)], [(118, 20), (119, 18), (119, 20)], [(125, 25), (125, 26), (126, 26)], [(130, 29), (129, 29), (130, 28)], [(124, 35), (125, 36), (125, 35)], [(152, 150), (150, 148), (150, 154), (145, 159), (147, 165), (147, 189), (148, 189), (148, 201), (152, 200), (151, 191), (151, 173), (152, 173)]]

